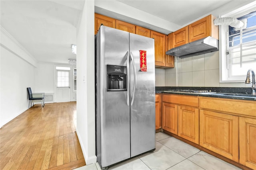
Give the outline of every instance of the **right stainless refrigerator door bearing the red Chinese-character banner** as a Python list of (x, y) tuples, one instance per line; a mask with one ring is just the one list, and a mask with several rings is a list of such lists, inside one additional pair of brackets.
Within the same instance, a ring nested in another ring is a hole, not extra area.
[[(140, 71), (140, 50), (146, 51), (146, 72)], [(154, 39), (130, 33), (130, 57), (132, 157), (155, 149)]]

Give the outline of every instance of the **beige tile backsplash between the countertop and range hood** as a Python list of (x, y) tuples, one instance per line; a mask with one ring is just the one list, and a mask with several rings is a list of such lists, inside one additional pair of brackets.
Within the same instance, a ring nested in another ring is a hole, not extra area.
[(220, 83), (219, 51), (180, 59), (175, 67), (155, 69), (156, 86), (250, 87), (245, 83)]

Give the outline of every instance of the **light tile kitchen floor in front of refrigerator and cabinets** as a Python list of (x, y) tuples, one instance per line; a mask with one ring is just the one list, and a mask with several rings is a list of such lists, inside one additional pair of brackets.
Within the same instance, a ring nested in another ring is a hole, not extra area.
[[(76, 170), (100, 170), (98, 163)], [(108, 170), (240, 170), (165, 133), (156, 133), (156, 150), (111, 166)]]

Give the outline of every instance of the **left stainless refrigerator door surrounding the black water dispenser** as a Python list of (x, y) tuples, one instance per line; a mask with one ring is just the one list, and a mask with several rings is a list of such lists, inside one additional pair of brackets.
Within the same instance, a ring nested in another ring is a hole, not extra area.
[(130, 106), (128, 106), (129, 102), (127, 102), (128, 90), (107, 90), (107, 65), (125, 66), (127, 72), (128, 51), (128, 32), (105, 26), (100, 27), (100, 56), (97, 56), (100, 59), (100, 66), (98, 66), (100, 85), (97, 84), (97, 86), (100, 86), (102, 167), (130, 158)]

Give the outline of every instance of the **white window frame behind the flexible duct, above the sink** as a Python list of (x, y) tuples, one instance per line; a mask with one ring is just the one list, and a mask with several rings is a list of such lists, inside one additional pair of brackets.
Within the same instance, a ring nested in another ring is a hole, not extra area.
[[(219, 16), (219, 18), (222, 17), (234, 17), (237, 18), (237, 16), (243, 16), (245, 14), (248, 14), (250, 12), (255, 11), (256, 8), (256, 1), (247, 4), (246, 6), (243, 6), (241, 8), (238, 8), (232, 12), (229, 12), (228, 14), (224, 14), (222, 16)], [(228, 38), (226, 35), (226, 32), (228, 31), (227, 25), (219, 25), (219, 47), (220, 47), (220, 83), (228, 83), (228, 82), (244, 82), (246, 78), (246, 73), (244, 73), (244, 76), (239, 76), (238, 78), (240, 80), (234, 80), (234, 78), (229, 78), (229, 70), (228, 70), (228, 61), (226, 56), (226, 39)]]

